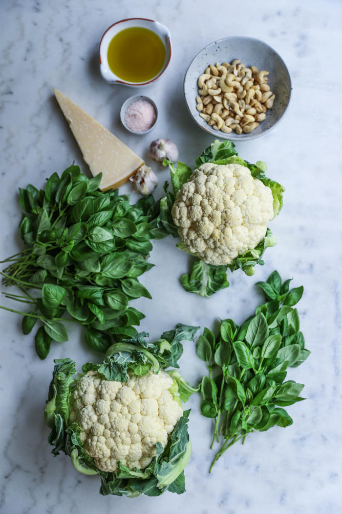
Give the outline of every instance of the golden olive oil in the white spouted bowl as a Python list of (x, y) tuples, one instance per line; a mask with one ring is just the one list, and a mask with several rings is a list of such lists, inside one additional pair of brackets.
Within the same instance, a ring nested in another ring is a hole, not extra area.
[(126, 82), (147, 82), (163, 68), (165, 46), (152, 30), (129, 27), (114, 35), (108, 47), (108, 65)]

